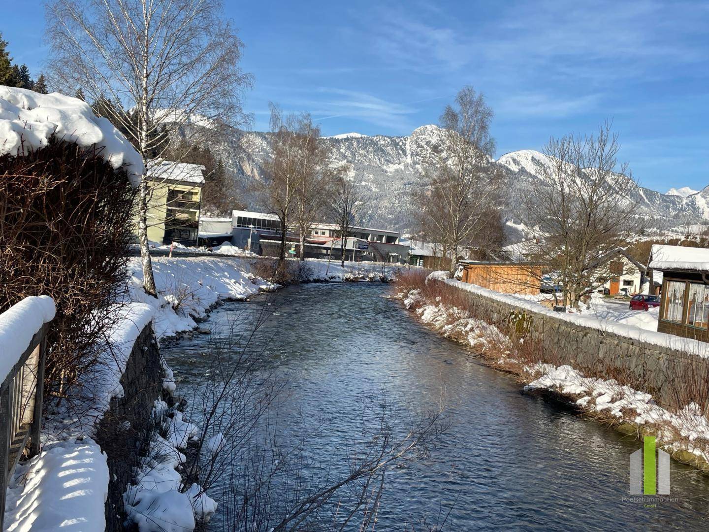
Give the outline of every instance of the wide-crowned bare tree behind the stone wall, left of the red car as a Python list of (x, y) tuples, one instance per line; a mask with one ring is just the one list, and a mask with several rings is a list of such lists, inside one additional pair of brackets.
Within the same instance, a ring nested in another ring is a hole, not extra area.
[(627, 164), (618, 163), (619, 150), (608, 122), (596, 135), (550, 139), (537, 165), (543, 184), (525, 201), (530, 257), (545, 263), (571, 307), (613, 275), (599, 259), (642, 230), (630, 199), (637, 182)]

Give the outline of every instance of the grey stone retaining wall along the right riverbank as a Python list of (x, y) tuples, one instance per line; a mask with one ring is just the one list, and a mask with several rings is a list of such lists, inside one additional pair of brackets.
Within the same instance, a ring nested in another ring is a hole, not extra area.
[(540, 343), (543, 353), (557, 355), (559, 364), (592, 377), (613, 378), (616, 375), (611, 373), (617, 372), (625, 383), (642, 383), (640, 389), (664, 406), (685, 406), (676, 404), (676, 382), (709, 377), (709, 362), (698, 355), (581, 326), (482, 294), (470, 293), (469, 297), (472, 314), (491, 316), (502, 326), (512, 321), (525, 338)]

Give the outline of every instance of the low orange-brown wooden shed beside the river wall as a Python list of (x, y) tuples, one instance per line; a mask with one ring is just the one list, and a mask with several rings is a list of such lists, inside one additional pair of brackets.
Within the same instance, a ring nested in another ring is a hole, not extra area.
[(464, 260), (463, 282), (503, 294), (540, 293), (542, 266), (531, 262)]

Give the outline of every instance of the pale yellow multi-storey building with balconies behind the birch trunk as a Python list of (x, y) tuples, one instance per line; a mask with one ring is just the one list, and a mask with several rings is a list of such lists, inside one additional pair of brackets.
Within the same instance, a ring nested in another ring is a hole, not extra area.
[(160, 244), (197, 244), (203, 171), (203, 166), (187, 162), (148, 162), (148, 240)]

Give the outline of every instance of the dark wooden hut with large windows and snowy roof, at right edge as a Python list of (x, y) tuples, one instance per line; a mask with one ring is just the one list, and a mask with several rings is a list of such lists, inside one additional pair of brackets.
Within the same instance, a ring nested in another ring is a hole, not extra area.
[(650, 267), (662, 272), (657, 331), (709, 342), (709, 249), (656, 244)]

